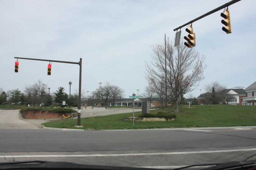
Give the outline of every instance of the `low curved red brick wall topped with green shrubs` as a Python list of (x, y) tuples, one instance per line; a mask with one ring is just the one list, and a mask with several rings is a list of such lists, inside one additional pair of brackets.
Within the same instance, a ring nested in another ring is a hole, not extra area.
[(63, 118), (62, 115), (68, 117), (71, 113), (67, 112), (41, 112), (41, 111), (31, 111), (24, 110), (22, 116), (24, 119), (60, 119)]

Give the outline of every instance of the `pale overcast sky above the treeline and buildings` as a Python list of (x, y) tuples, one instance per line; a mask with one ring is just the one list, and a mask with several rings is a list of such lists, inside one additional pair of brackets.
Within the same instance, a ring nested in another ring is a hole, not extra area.
[[(125, 90), (125, 97), (142, 93), (147, 86), (145, 61), (150, 45), (162, 44), (164, 34), (175, 38), (174, 28), (230, 0), (0, 0), (0, 87), (5, 91), (41, 79), (51, 92), (62, 86), (78, 89), (79, 66), (20, 59), (14, 73), (14, 57), (79, 62), (82, 89), (94, 91), (98, 82), (110, 82)], [(190, 2), (193, 2), (192, 4)], [(204, 84), (218, 81), (228, 88), (255, 82), (255, 0), (229, 7), (232, 34), (222, 31), (223, 9), (193, 23), (196, 50), (206, 56)], [(187, 35), (182, 28), (182, 36)], [(89, 94), (90, 94), (89, 92)]]

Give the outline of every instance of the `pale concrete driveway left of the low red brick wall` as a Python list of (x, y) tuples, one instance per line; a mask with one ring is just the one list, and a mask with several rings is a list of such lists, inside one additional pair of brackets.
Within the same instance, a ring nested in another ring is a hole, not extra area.
[(20, 119), (19, 110), (0, 110), (0, 128), (38, 128)]

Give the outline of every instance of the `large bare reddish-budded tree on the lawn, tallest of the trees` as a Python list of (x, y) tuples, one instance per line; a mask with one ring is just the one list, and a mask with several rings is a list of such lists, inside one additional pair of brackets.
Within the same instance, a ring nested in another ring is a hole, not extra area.
[[(204, 66), (205, 57), (200, 57), (200, 54), (195, 48), (187, 48), (181, 41), (179, 46), (174, 47), (173, 43), (167, 38), (166, 40), (166, 74), (167, 88), (170, 89), (175, 101), (175, 112), (179, 112), (179, 98), (183, 93), (189, 93), (196, 89), (199, 82), (205, 77), (203, 72), (206, 69)], [(162, 78), (165, 74), (165, 46), (151, 46), (153, 54), (151, 65), (146, 63), (147, 77), (153, 79)]]

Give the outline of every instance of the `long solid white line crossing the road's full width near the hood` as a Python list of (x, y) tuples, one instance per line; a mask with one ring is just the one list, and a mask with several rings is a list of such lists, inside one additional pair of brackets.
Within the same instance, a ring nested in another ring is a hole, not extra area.
[(191, 151), (191, 152), (162, 152), (162, 153), (126, 153), (126, 154), (95, 154), (95, 155), (6, 155), (0, 158), (23, 158), (23, 157), (100, 157), (100, 156), (139, 156), (139, 155), (175, 155), (175, 154), (195, 154), (195, 153), (217, 153), (217, 152), (238, 152), (250, 151), (252, 149), (231, 149), (231, 150), (208, 150), (208, 151)]

